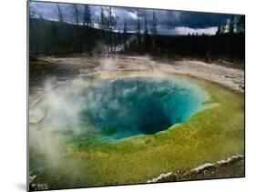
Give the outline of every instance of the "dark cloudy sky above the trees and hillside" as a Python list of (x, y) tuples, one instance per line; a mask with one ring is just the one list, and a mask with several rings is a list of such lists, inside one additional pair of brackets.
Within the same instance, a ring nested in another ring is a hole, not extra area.
[[(56, 3), (48, 2), (30, 2), (30, 11), (33, 11), (35, 17), (43, 16), (47, 20), (58, 20)], [(74, 6), (72, 4), (60, 4), (63, 13), (63, 19), (67, 23), (75, 23)], [(77, 5), (79, 11), (79, 22), (82, 23), (84, 5)], [(101, 6), (90, 5), (92, 22), (96, 23), (100, 16)], [(109, 6), (102, 6), (105, 14), (108, 15)], [(124, 21), (127, 21), (128, 31), (135, 32), (137, 29), (137, 10), (139, 13), (141, 29), (144, 28), (144, 15), (147, 15), (148, 29), (152, 25), (153, 9), (137, 9), (128, 7), (112, 6), (112, 14), (118, 16), (117, 29), (123, 30)], [(214, 35), (218, 25), (229, 21), (228, 14), (213, 14), (201, 12), (187, 12), (174, 10), (155, 10), (158, 18), (158, 34), (160, 35), (188, 35), (188, 34), (208, 34)], [(239, 15), (236, 15), (238, 18)]]

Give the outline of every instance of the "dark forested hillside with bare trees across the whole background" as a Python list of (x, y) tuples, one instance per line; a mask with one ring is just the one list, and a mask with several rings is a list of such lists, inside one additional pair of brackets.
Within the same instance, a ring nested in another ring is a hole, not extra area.
[[(89, 5), (83, 11), (72, 6), (72, 24), (65, 21), (60, 5), (56, 4), (58, 21), (49, 21), (42, 15), (29, 13), (30, 55), (67, 56), (72, 53), (86, 55), (152, 55), (165, 57), (223, 58), (244, 61), (245, 17), (230, 16), (229, 22), (220, 24), (216, 35), (159, 35), (158, 15), (136, 10), (136, 32), (129, 33), (125, 20), (122, 28), (111, 6), (101, 7), (96, 21), (92, 21)], [(82, 15), (82, 18), (81, 16)], [(148, 18), (151, 17), (151, 24)]]

